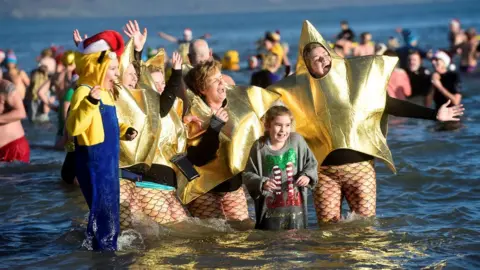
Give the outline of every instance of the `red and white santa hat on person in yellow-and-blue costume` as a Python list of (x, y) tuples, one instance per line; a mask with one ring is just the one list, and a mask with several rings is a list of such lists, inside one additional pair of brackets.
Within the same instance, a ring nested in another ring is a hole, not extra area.
[(125, 44), (120, 33), (113, 30), (100, 32), (92, 37), (85, 39), (78, 45), (78, 49), (83, 54), (98, 53), (110, 50), (108, 57), (110, 59), (120, 59)]

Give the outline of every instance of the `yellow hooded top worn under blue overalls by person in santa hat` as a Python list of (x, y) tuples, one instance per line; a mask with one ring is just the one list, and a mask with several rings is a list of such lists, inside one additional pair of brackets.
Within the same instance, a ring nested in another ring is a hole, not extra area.
[[(93, 104), (87, 99), (91, 87), (103, 84), (110, 65), (111, 60), (108, 57), (104, 57), (102, 63), (98, 63), (100, 55), (101, 52), (91, 54), (76, 52), (75, 55), (76, 70), (79, 75), (78, 85), (80, 87), (73, 94), (66, 127), (70, 136), (77, 137), (79, 145), (95, 145), (102, 143), (105, 139), (99, 109), (100, 103)], [(108, 89), (101, 90), (100, 95), (103, 104), (114, 106), (114, 98), (111, 92)], [(128, 128), (128, 125), (119, 123), (121, 139), (125, 139), (124, 135)]]

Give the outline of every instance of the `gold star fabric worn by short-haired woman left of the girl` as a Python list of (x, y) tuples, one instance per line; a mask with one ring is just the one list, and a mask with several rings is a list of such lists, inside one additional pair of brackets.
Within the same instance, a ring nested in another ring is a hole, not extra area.
[[(203, 120), (201, 130), (189, 125), (189, 144), (196, 145), (210, 125), (212, 109), (199, 96), (192, 97), (189, 115)], [(200, 177), (188, 182), (182, 175), (178, 194), (184, 204), (209, 192), (217, 185), (240, 173), (245, 168), (253, 142), (263, 133), (261, 117), (279, 99), (279, 95), (263, 88), (235, 86), (227, 90), (229, 120), (220, 132), (217, 158), (202, 167), (196, 167)]]

